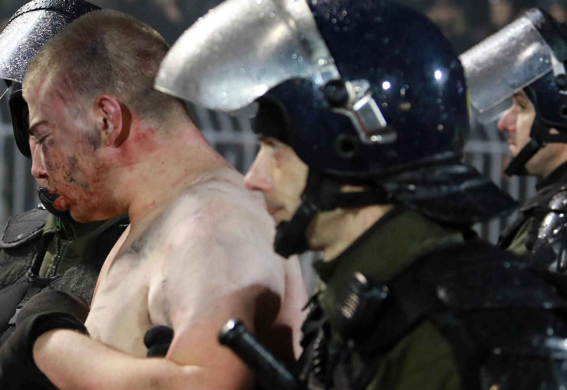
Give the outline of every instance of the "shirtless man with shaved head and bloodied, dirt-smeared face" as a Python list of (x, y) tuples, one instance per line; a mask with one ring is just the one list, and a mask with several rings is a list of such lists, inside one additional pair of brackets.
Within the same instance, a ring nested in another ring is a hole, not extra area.
[[(30, 342), (60, 389), (249, 388), (250, 372), (217, 342), (231, 317), (287, 342), (284, 355), (293, 331), (298, 352), (298, 264), (274, 255), (261, 197), (179, 100), (153, 90), (167, 49), (145, 24), (96, 11), (46, 44), (24, 79), (32, 171), (59, 195), (54, 206), (79, 222), (126, 211), (131, 221), (101, 271), (91, 337), (52, 329)], [(155, 325), (175, 332), (165, 359), (145, 359)]]

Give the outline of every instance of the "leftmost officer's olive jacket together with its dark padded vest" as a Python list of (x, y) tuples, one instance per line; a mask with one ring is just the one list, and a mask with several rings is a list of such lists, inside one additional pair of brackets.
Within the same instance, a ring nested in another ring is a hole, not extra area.
[(14, 215), (0, 239), (0, 345), (14, 332), (16, 308), (44, 288), (92, 299), (100, 268), (128, 216), (80, 224), (35, 209)]

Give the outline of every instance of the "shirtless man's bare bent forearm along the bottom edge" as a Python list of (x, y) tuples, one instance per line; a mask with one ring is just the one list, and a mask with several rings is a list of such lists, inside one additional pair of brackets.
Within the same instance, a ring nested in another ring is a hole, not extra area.
[(218, 380), (221, 372), (181, 366), (168, 359), (139, 359), (72, 330), (51, 330), (33, 346), (33, 359), (57, 388), (83, 389), (237, 389)]

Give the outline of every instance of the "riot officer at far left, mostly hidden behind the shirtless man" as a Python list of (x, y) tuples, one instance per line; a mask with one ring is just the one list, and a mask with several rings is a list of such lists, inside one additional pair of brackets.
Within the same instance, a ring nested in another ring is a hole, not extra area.
[[(32, 1), (0, 33), (0, 78), (10, 88), (16, 145), (28, 158), (28, 111), (21, 84), (27, 66), (66, 24), (96, 9), (82, 0)], [(10, 218), (0, 240), (0, 345), (14, 332), (19, 309), (43, 289), (71, 292), (90, 303), (100, 267), (128, 226), (126, 216), (80, 224), (53, 207), (56, 195), (40, 189), (39, 199), (37, 209)]]

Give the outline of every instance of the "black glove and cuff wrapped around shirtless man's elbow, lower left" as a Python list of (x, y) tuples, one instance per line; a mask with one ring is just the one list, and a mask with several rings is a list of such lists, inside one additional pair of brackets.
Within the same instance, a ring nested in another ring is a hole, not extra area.
[(33, 362), (33, 344), (52, 329), (88, 334), (84, 327), (87, 315), (88, 305), (79, 296), (58, 290), (44, 290), (33, 296), (18, 313), (14, 334), (0, 348), (0, 388), (56, 389)]

